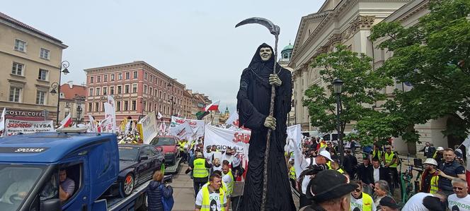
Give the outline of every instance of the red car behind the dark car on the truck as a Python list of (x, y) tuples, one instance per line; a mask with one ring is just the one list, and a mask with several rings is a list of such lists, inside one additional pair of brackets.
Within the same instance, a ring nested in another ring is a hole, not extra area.
[(165, 162), (169, 165), (176, 164), (176, 159), (180, 156), (178, 141), (173, 135), (159, 135), (150, 142), (156, 148), (161, 148), (165, 153)]

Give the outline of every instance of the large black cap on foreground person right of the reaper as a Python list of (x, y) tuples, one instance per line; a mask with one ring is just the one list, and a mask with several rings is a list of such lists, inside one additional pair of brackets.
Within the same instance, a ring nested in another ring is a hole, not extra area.
[(348, 176), (328, 169), (320, 171), (314, 179), (311, 179), (306, 188), (306, 197), (316, 203), (322, 203), (326, 200), (340, 198), (351, 193), (355, 188), (357, 185), (350, 183)]

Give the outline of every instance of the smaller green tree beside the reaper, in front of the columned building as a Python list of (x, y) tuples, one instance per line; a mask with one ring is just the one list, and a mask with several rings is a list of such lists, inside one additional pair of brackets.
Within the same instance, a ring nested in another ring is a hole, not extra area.
[(367, 116), (377, 115), (374, 110), (376, 102), (386, 100), (382, 89), (391, 85), (393, 80), (372, 71), (372, 59), (365, 54), (351, 52), (343, 45), (338, 45), (333, 52), (320, 54), (311, 64), (319, 68), (320, 78), (326, 87), (316, 83), (305, 91), (303, 104), (309, 110), (311, 126), (319, 131), (329, 133), (336, 131), (336, 96), (331, 84), (335, 78), (344, 81), (341, 94), (341, 133), (345, 125), (359, 121)]

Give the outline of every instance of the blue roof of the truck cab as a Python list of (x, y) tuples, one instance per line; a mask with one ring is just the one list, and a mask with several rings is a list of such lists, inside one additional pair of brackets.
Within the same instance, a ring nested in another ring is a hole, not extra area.
[[(0, 163), (55, 163), (80, 147), (93, 145), (93, 143), (100, 142), (106, 138), (117, 141), (112, 133), (101, 133), (101, 135), (97, 135), (97, 133), (65, 135), (63, 133), (47, 132), (11, 135), (0, 139)], [(19, 148), (27, 150), (32, 148), (33, 150), (43, 149), (43, 151), (30, 153), (15, 152)]]

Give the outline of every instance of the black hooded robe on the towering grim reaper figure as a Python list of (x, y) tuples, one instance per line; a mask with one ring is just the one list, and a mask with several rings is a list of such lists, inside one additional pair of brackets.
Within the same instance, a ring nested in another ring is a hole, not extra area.
[[(269, 115), (271, 85), (268, 78), (270, 74), (273, 74), (275, 59), (274, 56), (271, 56), (268, 61), (261, 60), (259, 55), (261, 47), (270, 46), (263, 43), (258, 47), (250, 65), (241, 74), (240, 90), (236, 97), (239, 126), (251, 129), (248, 172), (241, 203), (241, 210), (246, 211), (260, 210), (263, 193), (263, 169), (268, 133), (264, 121)], [(276, 129), (270, 136), (268, 190), (265, 207), (266, 210), (295, 210), (284, 158), (287, 113), (290, 111), (292, 99), (292, 74), (279, 64), (276, 65), (277, 76), (282, 80), (282, 84), (276, 87), (274, 104)]]

